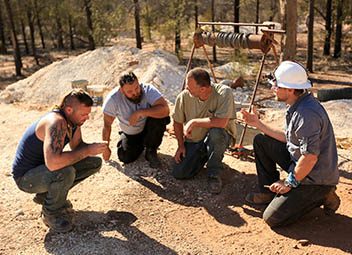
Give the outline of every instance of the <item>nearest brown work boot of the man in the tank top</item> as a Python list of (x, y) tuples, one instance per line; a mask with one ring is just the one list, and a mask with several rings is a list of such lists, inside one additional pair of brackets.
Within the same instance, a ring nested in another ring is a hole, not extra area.
[(44, 224), (54, 232), (66, 233), (73, 228), (71, 217), (65, 213), (47, 214), (42, 211), (42, 219)]

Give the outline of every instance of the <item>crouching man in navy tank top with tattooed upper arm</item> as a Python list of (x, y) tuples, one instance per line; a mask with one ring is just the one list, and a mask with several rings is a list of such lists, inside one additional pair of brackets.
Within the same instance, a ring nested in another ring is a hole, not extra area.
[[(68, 93), (59, 106), (34, 122), (19, 142), (13, 163), (13, 177), (19, 189), (36, 193), (42, 204), (44, 223), (55, 232), (73, 227), (68, 191), (99, 171), (105, 143), (86, 144), (81, 126), (89, 118), (93, 101), (83, 90)], [(63, 151), (66, 144), (70, 151)]]

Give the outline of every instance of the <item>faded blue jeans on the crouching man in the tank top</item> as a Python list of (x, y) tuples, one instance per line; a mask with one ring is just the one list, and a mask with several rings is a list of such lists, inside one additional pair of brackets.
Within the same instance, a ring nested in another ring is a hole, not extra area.
[(50, 171), (45, 165), (40, 165), (17, 178), (16, 184), (20, 190), (27, 193), (47, 193), (43, 211), (55, 214), (64, 207), (68, 191), (98, 172), (101, 165), (102, 160), (99, 157), (87, 157), (56, 171)]

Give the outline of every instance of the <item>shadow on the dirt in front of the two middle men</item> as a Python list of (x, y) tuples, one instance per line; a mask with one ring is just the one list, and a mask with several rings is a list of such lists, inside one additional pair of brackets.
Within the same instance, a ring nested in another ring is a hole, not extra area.
[[(197, 176), (189, 180), (176, 180), (171, 176), (174, 159), (165, 154), (159, 154), (163, 162), (163, 169), (151, 169), (147, 162), (131, 163), (122, 167), (116, 161), (110, 165), (128, 177), (147, 187), (159, 197), (187, 207), (203, 207), (219, 223), (240, 227), (246, 221), (231, 207), (242, 207), (245, 195), (256, 183), (256, 176), (231, 169), (224, 164), (222, 173), (223, 190), (219, 195), (212, 195), (207, 191), (207, 173), (203, 169)], [(144, 160), (138, 159), (140, 160)], [(148, 180), (153, 177), (158, 184)], [(261, 214), (256, 216), (261, 217)]]

